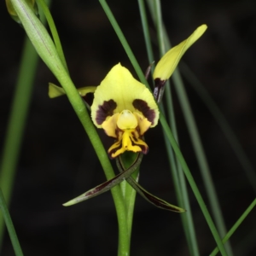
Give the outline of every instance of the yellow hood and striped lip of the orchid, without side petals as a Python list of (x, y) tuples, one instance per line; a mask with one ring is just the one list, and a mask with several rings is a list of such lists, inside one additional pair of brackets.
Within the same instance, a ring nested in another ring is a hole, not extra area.
[(126, 150), (147, 154), (143, 134), (157, 125), (159, 110), (148, 88), (117, 64), (96, 88), (91, 119), (97, 128), (116, 138), (108, 149), (111, 158)]

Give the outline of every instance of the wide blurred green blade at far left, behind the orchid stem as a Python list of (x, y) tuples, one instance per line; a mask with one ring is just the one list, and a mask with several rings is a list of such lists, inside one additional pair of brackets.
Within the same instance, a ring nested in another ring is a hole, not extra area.
[[(49, 3), (50, 1), (48, 1)], [(40, 10), (39, 10), (40, 11)], [(41, 21), (45, 19), (40, 13)], [(12, 21), (12, 20), (11, 20)], [(23, 131), (32, 96), (32, 84), (38, 67), (38, 54), (28, 38), (24, 41), (20, 60), (20, 70), (17, 75), (15, 96), (13, 98), (9, 115), (7, 134), (3, 144), (3, 155), (0, 166), (0, 188), (2, 188), (5, 201), (9, 206), (12, 189), (15, 181), (15, 171), (22, 143)], [(22, 97), (20, 97), (22, 95)], [(3, 241), (3, 216), (0, 215), (0, 248)]]

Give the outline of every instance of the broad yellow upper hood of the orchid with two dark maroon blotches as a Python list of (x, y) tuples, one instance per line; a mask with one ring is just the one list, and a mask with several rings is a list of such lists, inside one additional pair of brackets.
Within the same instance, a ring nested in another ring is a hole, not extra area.
[(151, 127), (157, 125), (159, 110), (148, 88), (134, 79), (128, 69), (115, 65), (95, 91), (91, 118), (98, 128), (114, 113), (128, 109), (148, 118)]

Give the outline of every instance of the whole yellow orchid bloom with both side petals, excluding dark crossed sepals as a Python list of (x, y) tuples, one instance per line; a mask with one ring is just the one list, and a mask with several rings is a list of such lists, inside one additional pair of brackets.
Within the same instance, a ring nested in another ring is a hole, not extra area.
[[(166, 79), (177, 67), (178, 61), (195, 41), (206, 31), (207, 26), (199, 26), (181, 44), (173, 47), (157, 63), (154, 78), (154, 96), (146, 86), (134, 79), (128, 69), (115, 65), (99, 86), (79, 88), (79, 94), (86, 96), (94, 92), (91, 105), (91, 119), (97, 128), (102, 128), (116, 142), (108, 149), (111, 158), (126, 150), (148, 153), (148, 145), (143, 135), (148, 128), (158, 123), (159, 109), (154, 101), (160, 102)], [(49, 97), (64, 95), (65, 90), (49, 84)]]

